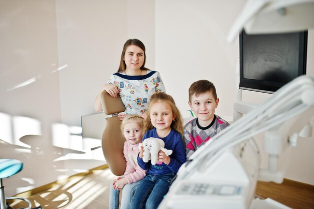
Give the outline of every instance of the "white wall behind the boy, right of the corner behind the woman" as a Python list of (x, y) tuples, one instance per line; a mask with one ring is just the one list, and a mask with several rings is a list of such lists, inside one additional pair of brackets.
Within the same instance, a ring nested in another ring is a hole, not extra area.
[[(238, 40), (229, 44), (226, 36), (241, 10), (237, 1), (156, 1), (156, 69), (161, 72), (167, 92), (174, 96), (184, 116), (189, 116), (188, 88), (197, 80), (212, 81), (220, 98), (216, 113), (232, 119), (236, 90)], [(314, 30), (308, 32), (307, 74), (314, 77)], [(270, 94), (243, 92), (243, 100), (260, 104)], [(313, 124), (313, 119), (311, 123)], [(262, 143), (259, 141), (259, 145)], [(314, 184), (314, 137), (299, 139), (289, 148), (281, 164), (285, 178)], [(263, 154), (264, 156), (264, 154)], [(267, 166), (267, 157), (262, 159)]]

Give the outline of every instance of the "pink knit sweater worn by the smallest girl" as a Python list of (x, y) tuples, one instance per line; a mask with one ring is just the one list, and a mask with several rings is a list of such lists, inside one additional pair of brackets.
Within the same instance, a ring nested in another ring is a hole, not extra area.
[(138, 144), (130, 144), (125, 141), (123, 153), (126, 160), (124, 177), (127, 179), (127, 182), (130, 184), (141, 180), (146, 173), (137, 164)]

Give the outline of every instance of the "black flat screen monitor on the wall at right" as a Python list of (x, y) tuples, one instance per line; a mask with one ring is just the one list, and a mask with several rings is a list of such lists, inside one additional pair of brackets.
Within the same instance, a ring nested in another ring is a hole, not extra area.
[(306, 73), (307, 31), (240, 34), (240, 89), (273, 93)]

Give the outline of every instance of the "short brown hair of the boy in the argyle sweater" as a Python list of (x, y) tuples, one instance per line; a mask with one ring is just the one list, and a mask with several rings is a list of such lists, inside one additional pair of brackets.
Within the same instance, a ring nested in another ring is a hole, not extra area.
[(217, 100), (217, 93), (214, 84), (208, 80), (199, 80), (194, 82), (189, 88), (189, 101), (191, 102), (192, 96), (211, 92), (215, 100)]

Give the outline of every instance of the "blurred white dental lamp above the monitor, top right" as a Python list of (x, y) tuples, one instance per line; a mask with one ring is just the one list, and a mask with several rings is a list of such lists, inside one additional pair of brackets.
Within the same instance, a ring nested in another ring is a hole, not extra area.
[(247, 34), (287, 33), (314, 27), (314, 0), (247, 0), (230, 28), (228, 42)]

